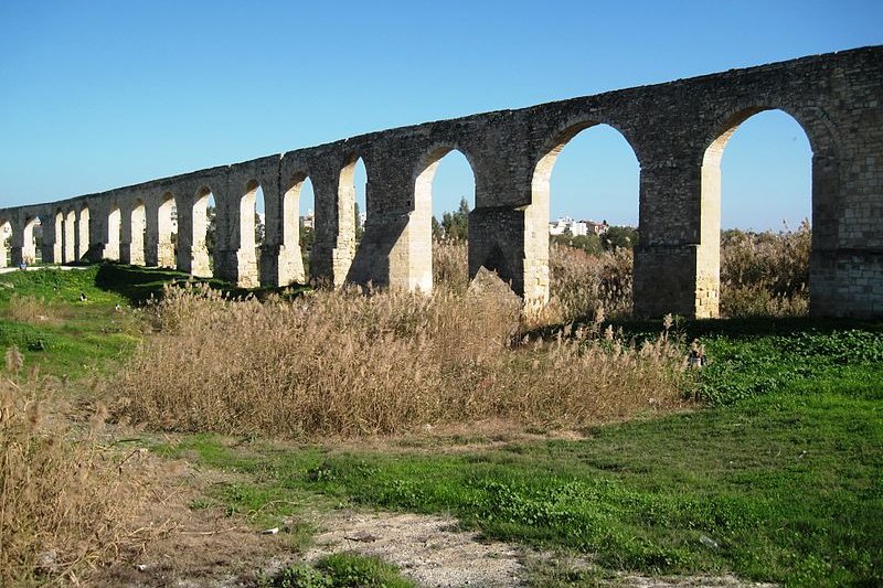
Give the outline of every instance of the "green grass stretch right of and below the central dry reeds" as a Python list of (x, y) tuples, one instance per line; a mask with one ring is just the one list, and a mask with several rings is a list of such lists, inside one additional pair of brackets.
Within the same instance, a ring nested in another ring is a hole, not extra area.
[(489, 537), (588, 554), (607, 570), (880, 585), (881, 330), (736, 327), (703, 336), (711, 363), (693, 393), (713, 407), (595, 427), (579, 441), (379, 453), (200, 436), (163, 451), (251, 475), (245, 485), (273, 500), (318, 492), (451, 513)]

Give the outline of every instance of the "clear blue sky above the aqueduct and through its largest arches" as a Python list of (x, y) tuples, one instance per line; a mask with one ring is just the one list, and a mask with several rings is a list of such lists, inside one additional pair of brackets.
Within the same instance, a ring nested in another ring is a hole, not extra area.
[[(879, 0), (7, 0), (0, 205), (881, 44), (881, 23)], [(457, 157), (439, 167), (436, 212), (471, 199)], [(724, 154), (724, 225), (778, 228), (807, 216), (809, 158), (787, 116), (749, 119)], [(637, 162), (615, 132), (577, 136), (552, 189), (553, 216), (637, 222)]]

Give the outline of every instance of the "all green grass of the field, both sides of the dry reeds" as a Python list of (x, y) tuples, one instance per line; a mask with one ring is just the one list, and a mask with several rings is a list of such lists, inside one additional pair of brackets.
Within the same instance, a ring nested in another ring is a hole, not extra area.
[[(149, 330), (129, 303), (170, 279), (183, 277), (114, 265), (2, 275), (0, 343), (57, 377), (113, 373)], [(658, 321), (620, 325), (639, 339), (659, 332)], [(745, 319), (675, 329), (709, 356), (684, 383), (692, 408), (587, 425), (577, 438), (427, 434), (359, 448), (198, 434), (150, 443), (158, 456), (237, 474), (192, 507), (249, 514), (264, 528), (317, 505), (443, 513), (595, 565), (553, 559), (536, 571), (539, 586), (591, 586), (620, 570), (883, 584), (883, 324)], [(347, 556), (266, 584), (345, 586), (348, 574), (398, 581), (382, 563)]]

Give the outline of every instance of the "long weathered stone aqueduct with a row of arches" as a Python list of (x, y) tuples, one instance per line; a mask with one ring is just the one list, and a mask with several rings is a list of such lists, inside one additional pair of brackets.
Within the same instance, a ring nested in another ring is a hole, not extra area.
[[(243, 286), (302, 280), (299, 192), (315, 190), (313, 278), (429, 290), (430, 193), (459, 150), (476, 179), (469, 272), (494, 269), (528, 303), (549, 296), (550, 175), (563, 146), (606, 124), (640, 164), (635, 311), (715, 317), (720, 291), (720, 161), (736, 127), (780, 109), (812, 148), (810, 309), (883, 317), (883, 46), (802, 57), (653, 86), (372, 132), (319, 147), (87, 194), (0, 209), (11, 261), (120, 259), (210, 274), (206, 201), (216, 202), (214, 272)], [(368, 171), (365, 232), (354, 239), (353, 169)], [(258, 276), (257, 188), (266, 207)], [(178, 210), (177, 259), (170, 209)], [(348, 213), (348, 214), (347, 214)], [(7, 253), (7, 252), (0, 252)], [(0, 255), (6, 263), (7, 256)]]

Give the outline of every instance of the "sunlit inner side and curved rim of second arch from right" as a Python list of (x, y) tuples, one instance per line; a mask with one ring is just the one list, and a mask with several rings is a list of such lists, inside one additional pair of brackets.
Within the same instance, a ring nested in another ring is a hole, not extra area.
[[(584, 130), (605, 125), (615, 130), (631, 148), (638, 168), (641, 156), (636, 142), (611, 121), (598, 117), (571, 120), (558, 127), (538, 153), (531, 177), (531, 204), (524, 210), (524, 300), (528, 307), (543, 306), (549, 301), (549, 217), (551, 207), (551, 179), (558, 156), (571, 140)], [(640, 199), (640, 194), (636, 194)], [(638, 218), (640, 225), (640, 217)]]

